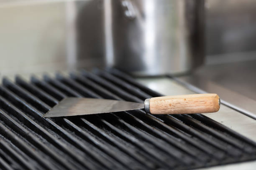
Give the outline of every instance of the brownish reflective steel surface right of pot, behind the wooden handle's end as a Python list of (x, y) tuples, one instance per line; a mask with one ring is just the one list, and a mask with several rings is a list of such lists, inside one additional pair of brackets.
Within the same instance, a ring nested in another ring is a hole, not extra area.
[(205, 65), (177, 80), (194, 90), (216, 92), (224, 104), (256, 119), (255, 65), (256, 60)]

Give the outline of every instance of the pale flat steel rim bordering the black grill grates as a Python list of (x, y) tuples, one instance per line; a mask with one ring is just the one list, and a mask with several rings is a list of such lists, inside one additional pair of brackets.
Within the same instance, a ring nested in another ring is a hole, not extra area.
[[(155, 90), (163, 95), (186, 95), (195, 93), (168, 77), (137, 78), (137, 80), (141, 84), (146, 85), (152, 90)], [(205, 113), (204, 115), (216, 120), (217, 122), (220, 122), (238, 133), (243, 134), (247, 138), (256, 141), (256, 120), (252, 119), (251, 117), (243, 115), (225, 105), (221, 105), (218, 112)], [(200, 170), (254, 170), (255, 167), (256, 161), (250, 161), (245, 163), (215, 166), (212, 168), (202, 168)]]

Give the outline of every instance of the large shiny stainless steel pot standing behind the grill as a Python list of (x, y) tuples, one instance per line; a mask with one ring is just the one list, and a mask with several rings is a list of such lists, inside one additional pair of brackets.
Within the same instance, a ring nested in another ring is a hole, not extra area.
[(162, 75), (184, 73), (202, 64), (204, 0), (106, 2), (109, 66), (136, 75)]

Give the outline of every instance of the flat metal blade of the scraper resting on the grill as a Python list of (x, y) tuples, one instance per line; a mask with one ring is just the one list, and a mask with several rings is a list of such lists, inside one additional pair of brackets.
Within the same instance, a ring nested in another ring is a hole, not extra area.
[(120, 112), (144, 108), (144, 103), (95, 98), (67, 97), (54, 106), (43, 117), (90, 115)]

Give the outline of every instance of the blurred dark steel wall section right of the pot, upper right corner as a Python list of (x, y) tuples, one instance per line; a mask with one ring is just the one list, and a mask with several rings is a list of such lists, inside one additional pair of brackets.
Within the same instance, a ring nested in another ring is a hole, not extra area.
[(256, 50), (255, 0), (206, 0), (206, 53)]

